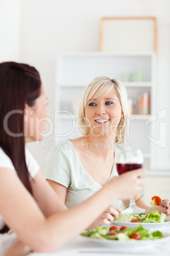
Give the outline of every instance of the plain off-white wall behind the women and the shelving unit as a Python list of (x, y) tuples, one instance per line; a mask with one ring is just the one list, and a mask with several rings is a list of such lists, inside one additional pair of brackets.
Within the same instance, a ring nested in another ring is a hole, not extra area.
[[(16, 0), (13, 2), (18, 3)], [(169, 0), (22, 0), (21, 46), (18, 46), (18, 50), (21, 50), (21, 60), (36, 66), (41, 73), (42, 82), (49, 96), (51, 117), (53, 117), (55, 106), (57, 53), (98, 51), (101, 17), (156, 16), (159, 21), (159, 49), (155, 102), (157, 111), (167, 108), (167, 131), (170, 131), (169, 10)], [(7, 10), (6, 13), (8, 13)], [(8, 55), (6, 56), (8, 58)], [(157, 147), (155, 162), (157, 169), (170, 168), (170, 138), (169, 135), (167, 136), (167, 142), (169, 142), (167, 148)], [(49, 140), (52, 141), (53, 138)], [(39, 146), (29, 145), (29, 148), (43, 169), (48, 150), (42, 149), (42, 143)]]

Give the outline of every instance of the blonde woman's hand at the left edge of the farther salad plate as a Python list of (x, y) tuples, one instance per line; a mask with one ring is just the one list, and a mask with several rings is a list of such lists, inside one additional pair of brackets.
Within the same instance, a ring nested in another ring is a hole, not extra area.
[(88, 229), (95, 229), (98, 225), (109, 225), (114, 221), (114, 218), (119, 217), (119, 213), (121, 213), (122, 209), (116, 206), (110, 206), (104, 211), (100, 217), (96, 218), (95, 222), (91, 224)]

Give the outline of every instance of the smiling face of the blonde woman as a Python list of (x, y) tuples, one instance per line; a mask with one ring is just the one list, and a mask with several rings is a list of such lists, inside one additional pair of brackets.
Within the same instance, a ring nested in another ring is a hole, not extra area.
[(104, 96), (90, 99), (85, 107), (89, 133), (94, 136), (116, 136), (117, 125), (124, 116), (121, 102), (113, 88)]

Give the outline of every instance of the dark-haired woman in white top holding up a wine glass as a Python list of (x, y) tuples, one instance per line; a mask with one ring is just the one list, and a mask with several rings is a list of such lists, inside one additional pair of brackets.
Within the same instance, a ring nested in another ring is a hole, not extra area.
[(67, 210), (25, 148), (43, 138), (47, 104), (35, 68), (0, 64), (0, 255), (52, 252), (91, 225), (110, 203), (134, 196), (143, 184), (138, 176), (145, 170), (123, 174)]

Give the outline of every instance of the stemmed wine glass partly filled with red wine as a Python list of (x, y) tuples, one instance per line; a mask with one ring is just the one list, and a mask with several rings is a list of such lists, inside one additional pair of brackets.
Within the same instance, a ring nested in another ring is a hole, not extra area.
[[(143, 155), (141, 150), (123, 150), (115, 155), (115, 164), (119, 175), (139, 169), (143, 166)], [(130, 199), (129, 208), (122, 211), (123, 214), (145, 213), (145, 209), (136, 206), (134, 198)]]

